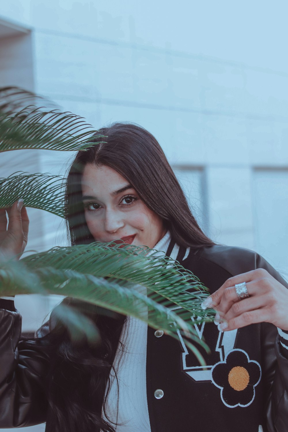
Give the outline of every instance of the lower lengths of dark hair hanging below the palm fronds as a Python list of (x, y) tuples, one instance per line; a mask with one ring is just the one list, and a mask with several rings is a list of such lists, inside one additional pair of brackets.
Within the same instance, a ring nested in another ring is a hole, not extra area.
[[(49, 357), (44, 380), (48, 403), (45, 430), (115, 432), (113, 422), (102, 419), (101, 411), (103, 407), (109, 419), (105, 408), (111, 387), (110, 372), (126, 317), (68, 297), (63, 303), (85, 315), (92, 327), (97, 326), (101, 337), (99, 340), (95, 334), (95, 341), (88, 341), (85, 334), (75, 337), (75, 328), (59, 317), (53, 318), (57, 307), (52, 311), (53, 328), (43, 338), (48, 342), (44, 351)], [(117, 379), (116, 371), (115, 375)]]

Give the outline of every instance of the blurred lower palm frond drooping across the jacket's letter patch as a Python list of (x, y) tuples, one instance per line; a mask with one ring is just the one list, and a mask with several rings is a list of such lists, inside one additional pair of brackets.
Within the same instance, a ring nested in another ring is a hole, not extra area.
[[(53, 254), (52, 250), (51, 253)], [(65, 295), (112, 311), (128, 314), (147, 322), (155, 329), (163, 329), (166, 334), (174, 338), (178, 338), (178, 332), (180, 332), (186, 340), (187, 346), (201, 363), (204, 362), (201, 353), (194, 344), (199, 343), (206, 350), (208, 347), (202, 340), (199, 340), (193, 322), (184, 320), (175, 311), (155, 302), (146, 295), (143, 287), (138, 286), (137, 289), (137, 286), (127, 287), (125, 284), (120, 286), (120, 280), (116, 283), (103, 277), (83, 274), (75, 270), (38, 267), (36, 263), (32, 270), (31, 261), (28, 265), (28, 258), (16, 262), (0, 263), (1, 295), (8, 295), (8, 293), (9, 295), (30, 293)], [(137, 264), (131, 269), (132, 273), (139, 272), (139, 263)], [(149, 273), (153, 272), (154, 270), (150, 268)], [(151, 276), (153, 278), (153, 274)]]

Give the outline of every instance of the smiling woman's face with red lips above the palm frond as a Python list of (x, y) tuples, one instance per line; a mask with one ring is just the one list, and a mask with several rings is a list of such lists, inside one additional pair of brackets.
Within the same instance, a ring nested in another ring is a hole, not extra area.
[(112, 168), (85, 165), (82, 199), (87, 226), (95, 241), (122, 239), (125, 243), (153, 248), (165, 235), (160, 216)]

